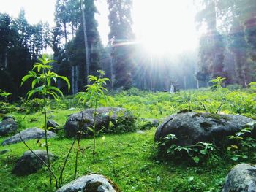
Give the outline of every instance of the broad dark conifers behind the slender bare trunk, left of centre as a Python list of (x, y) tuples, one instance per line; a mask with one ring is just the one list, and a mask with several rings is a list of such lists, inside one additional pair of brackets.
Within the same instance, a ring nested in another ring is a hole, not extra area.
[[(78, 92), (79, 87), (83, 88), (84, 85), (88, 84), (87, 74), (96, 74), (97, 70), (101, 68), (102, 44), (95, 19), (97, 9), (94, 0), (61, 0), (56, 6), (56, 12), (60, 9), (64, 9), (67, 15), (56, 13), (53, 50), (55, 51), (55, 59), (60, 63), (59, 69), (61, 71), (59, 73), (70, 77), (72, 93), (74, 94)], [(65, 33), (63, 31), (64, 22), (66, 22), (67, 34), (71, 29), (72, 38), (67, 38), (67, 44), (61, 46), (61, 34)]]

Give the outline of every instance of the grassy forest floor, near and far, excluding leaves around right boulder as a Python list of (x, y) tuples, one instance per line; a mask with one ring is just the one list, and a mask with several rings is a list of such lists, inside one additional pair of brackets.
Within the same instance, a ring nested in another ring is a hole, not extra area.
[[(125, 107), (138, 118), (156, 118), (160, 122), (179, 110), (191, 109), (215, 112), (225, 96), (221, 112), (246, 115), (255, 118), (255, 99), (249, 90), (181, 91), (175, 94), (150, 93), (131, 89), (113, 94), (112, 107)], [(203, 105), (202, 105), (203, 103)], [(14, 105), (18, 107), (18, 105)], [(30, 106), (31, 107), (31, 106)], [(73, 110), (69, 108), (73, 107)], [(48, 101), (48, 117), (56, 120), (61, 127), (67, 117), (80, 111), (79, 104), (72, 97), (61, 101)], [(33, 108), (34, 109), (34, 108)], [(28, 109), (29, 111), (29, 109)], [(42, 112), (10, 112), (19, 121), (20, 130), (34, 126), (42, 128)], [(97, 137), (97, 161), (92, 157), (92, 138), (82, 139), (85, 149), (78, 159), (78, 176), (91, 172), (110, 177), (121, 191), (221, 191), (227, 172), (238, 162), (220, 161), (217, 164), (187, 164), (186, 162), (160, 161), (157, 158), (157, 146), (154, 143), (156, 128), (124, 134), (105, 134)], [(0, 143), (7, 137), (0, 137)], [(59, 172), (73, 139), (64, 137), (60, 131), (58, 137), (50, 139), (50, 152), (57, 155), (53, 169)], [(33, 150), (39, 147), (35, 140), (26, 142)], [(26, 150), (22, 143), (0, 146), (9, 150), (0, 155), (0, 191), (54, 191), (48, 186), (46, 168), (35, 174), (18, 177), (11, 174), (15, 162)], [(254, 162), (248, 159), (247, 162)], [(72, 151), (64, 172), (64, 183), (73, 180), (75, 170), (75, 149)]]

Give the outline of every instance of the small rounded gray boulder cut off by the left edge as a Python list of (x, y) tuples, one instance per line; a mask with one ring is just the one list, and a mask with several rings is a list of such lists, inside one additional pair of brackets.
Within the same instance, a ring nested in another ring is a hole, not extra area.
[(18, 129), (18, 123), (12, 117), (5, 117), (0, 123), (0, 136), (13, 134)]

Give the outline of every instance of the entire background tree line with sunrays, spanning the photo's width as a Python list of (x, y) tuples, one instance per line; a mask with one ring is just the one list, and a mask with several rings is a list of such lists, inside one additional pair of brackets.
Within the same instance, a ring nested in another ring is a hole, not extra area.
[[(214, 77), (246, 85), (255, 80), (256, 0), (197, 0), (195, 20), (206, 26), (199, 50), (179, 55), (151, 55), (132, 32), (132, 0), (108, 0), (108, 46), (97, 30), (94, 0), (56, 0), (55, 23), (30, 25), (22, 9), (18, 18), (0, 13), (0, 88), (14, 99), (25, 96), (20, 80), (37, 57), (53, 50), (53, 69), (71, 82), (71, 94), (84, 90), (87, 75), (98, 69), (110, 88), (151, 91), (206, 86)], [(171, 23), (167, 23), (167, 25)], [(62, 85), (59, 84), (59, 87)]]

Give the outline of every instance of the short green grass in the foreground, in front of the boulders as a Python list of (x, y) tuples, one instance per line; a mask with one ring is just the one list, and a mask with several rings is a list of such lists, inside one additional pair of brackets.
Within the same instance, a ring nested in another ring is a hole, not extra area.
[[(152, 128), (140, 133), (105, 135), (105, 140), (97, 138), (96, 164), (91, 155), (92, 139), (83, 139), (81, 146), (86, 150), (83, 157), (80, 153), (78, 176), (91, 172), (104, 174), (118, 183), (122, 191), (219, 191), (227, 168), (187, 167), (157, 161), (154, 132)], [(34, 150), (42, 148), (34, 140), (27, 143)], [(58, 156), (53, 169), (60, 169), (71, 143), (72, 139), (50, 139), (50, 152)], [(0, 147), (5, 149), (10, 151), (0, 156), (2, 191), (10, 191), (10, 186), (12, 191), (54, 191), (48, 188), (46, 169), (24, 177), (10, 174), (15, 161), (27, 149), (21, 143)], [(73, 179), (74, 162), (75, 150), (65, 169), (64, 183)]]

